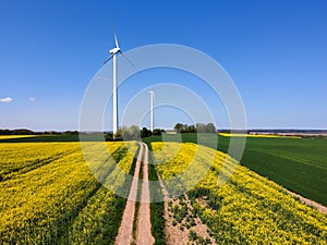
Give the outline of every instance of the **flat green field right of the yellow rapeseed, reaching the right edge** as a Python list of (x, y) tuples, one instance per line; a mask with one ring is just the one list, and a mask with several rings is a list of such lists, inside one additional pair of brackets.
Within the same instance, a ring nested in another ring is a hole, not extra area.
[[(207, 135), (213, 146), (216, 135)], [(160, 142), (160, 136), (145, 142)], [(166, 139), (167, 140), (167, 139)], [(178, 142), (177, 135), (169, 140)], [(196, 143), (196, 134), (182, 134), (183, 142)], [(219, 136), (217, 149), (227, 152), (229, 137)], [(249, 137), (241, 164), (302, 196), (327, 206), (327, 139)]]

